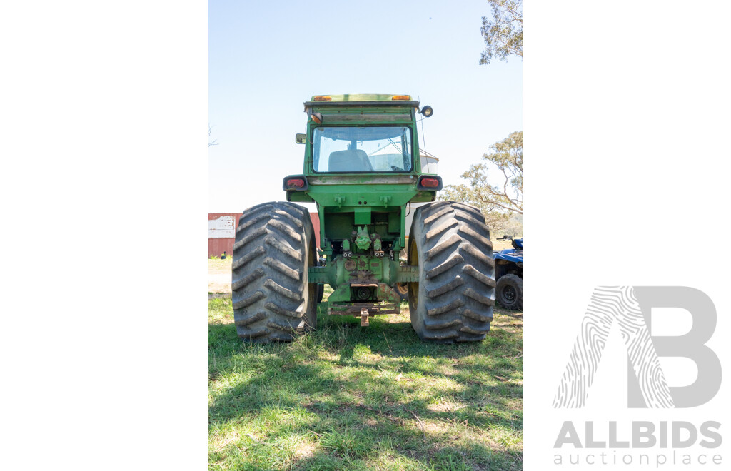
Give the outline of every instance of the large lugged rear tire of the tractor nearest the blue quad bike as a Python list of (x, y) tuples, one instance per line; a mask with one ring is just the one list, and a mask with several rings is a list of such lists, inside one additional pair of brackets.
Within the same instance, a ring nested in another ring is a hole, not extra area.
[(422, 340), (471, 342), (490, 331), (495, 305), (495, 262), (490, 230), (476, 207), (433, 202), (419, 207), (409, 235), (409, 313)]

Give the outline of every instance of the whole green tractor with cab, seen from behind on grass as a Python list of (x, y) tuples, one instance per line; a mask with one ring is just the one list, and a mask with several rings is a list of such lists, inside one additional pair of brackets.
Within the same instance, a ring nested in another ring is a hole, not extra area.
[[(490, 233), (476, 208), (435, 201), (442, 178), (422, 172), (416, 126), (431, 107), (408, 95), (313, 96), (304, 105), (307, 132), (295, 137), (305, 145), (303, 173), (284, 177), (287, 202), (250, 207), (236, 229), (239, 337), (289, 341), (315, 329), (327, 283), (328, 315), (368, 326), (376, 314), (400, 313), (397, 288), (405, 288), (422, 340), (484, 339), (495, 304)], [(308, 210), (295, 202), (317, 204), (319, 248)]]

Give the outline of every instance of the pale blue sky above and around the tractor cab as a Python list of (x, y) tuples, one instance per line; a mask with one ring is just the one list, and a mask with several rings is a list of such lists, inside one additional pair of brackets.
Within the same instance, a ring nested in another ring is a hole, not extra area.
[[(284, 199), (301, 172), (303, 102), (408, 93), (429, 104), (422, 148), (445, 184), (522, 130), (522, 61), (478, 65), (484, 0), (209, 4), (209, 211)], [(419, 129), (421, 133), (421, 129)]]

